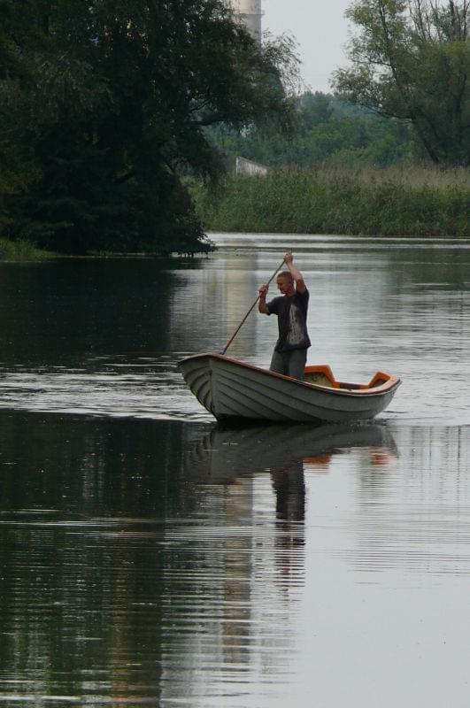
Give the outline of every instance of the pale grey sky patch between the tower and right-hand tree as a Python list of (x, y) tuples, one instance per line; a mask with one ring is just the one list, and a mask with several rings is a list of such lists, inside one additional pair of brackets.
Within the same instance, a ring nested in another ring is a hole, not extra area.
[(344, 44), (351, 23), (344, 11), (352, 0), (262, 0), (262, 29), (288, 33), (297, 41), (302, 78), (312, 91), (331, 90), (331, 73), (347, 65)]

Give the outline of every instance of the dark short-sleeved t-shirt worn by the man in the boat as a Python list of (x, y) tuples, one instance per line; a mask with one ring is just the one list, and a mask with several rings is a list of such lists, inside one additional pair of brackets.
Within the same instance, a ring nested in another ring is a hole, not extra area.
[(307, 349), (310, 339), (307, 332), (307, 309), (309, 292), (297, 293), (292, 297), (281, 295), (266, 303), (267, 311), (277, 315), (279, 339), (274, 350), (291, 351)]

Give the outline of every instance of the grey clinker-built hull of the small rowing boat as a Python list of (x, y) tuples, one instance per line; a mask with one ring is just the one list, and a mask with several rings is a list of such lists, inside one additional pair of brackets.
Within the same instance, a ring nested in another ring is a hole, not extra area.
[[(392, 400), (399, 379), (373, 389), (338, 389), (297, 381), (212, 352), (179, 362), (189, 389), (218, 420), (344, 423), (373, 419)], [(353, 384), (351, 384), (353, 386)]]

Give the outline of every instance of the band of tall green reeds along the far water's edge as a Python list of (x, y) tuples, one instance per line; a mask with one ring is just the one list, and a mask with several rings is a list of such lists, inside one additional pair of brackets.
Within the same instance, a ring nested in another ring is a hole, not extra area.
[(191, 191), (209, 231), (470, 236), (464, 169), (285, 169)]

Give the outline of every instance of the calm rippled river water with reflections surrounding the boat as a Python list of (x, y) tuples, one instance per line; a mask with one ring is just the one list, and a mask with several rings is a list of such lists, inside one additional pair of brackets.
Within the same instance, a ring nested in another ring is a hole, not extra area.
[[(466, 708), (470, 242), (214, 239), (0, 264), (0, 705)], [(309, 363), (403, 379), (373, 424), (230, 430), (177, 372), (288, 249)]]

